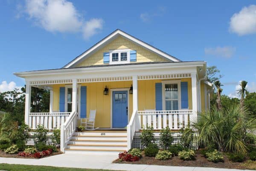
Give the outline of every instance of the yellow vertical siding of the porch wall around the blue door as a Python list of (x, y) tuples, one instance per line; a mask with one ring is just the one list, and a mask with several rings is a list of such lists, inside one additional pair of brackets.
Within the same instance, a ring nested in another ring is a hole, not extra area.
[[(162, 80), (138, 81), (138, 103), (139, 110), (155, 109), (155, 83)], [(181, 81), (188, 82), (189, 109), (192, 109), (191, 78), (183, 78)], [(111, 89), (130, 88), (132, 81), (82, 83), (87, 86), (87, 116), (90, 110), (96, 109), (95, 127), (111, 127)], [(109, 89), (109, 95), (103, 95), (105, 86)], [(59, 89), (65, 87), (64, 84), (53, 85), (53, 110), (59, 110)], [(129, 116), (133, 112), (133, 96), (129, 94)], [(80, 125), (80, 121), (78, 122)]]

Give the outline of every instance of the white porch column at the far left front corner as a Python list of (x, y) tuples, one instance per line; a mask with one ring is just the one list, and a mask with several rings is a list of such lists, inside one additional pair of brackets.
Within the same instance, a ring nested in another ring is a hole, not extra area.
[(31, 103), (31, 85), (29, 81), (26, 81), (26, 93), (25, 93), (25, 124), (29, 125), (29, 113)]

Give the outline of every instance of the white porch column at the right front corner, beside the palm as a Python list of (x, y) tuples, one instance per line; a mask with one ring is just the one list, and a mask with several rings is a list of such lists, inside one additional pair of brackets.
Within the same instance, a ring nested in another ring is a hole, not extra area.
[(190, 115), (190, 121), (193, 121), (197, 118), (198, 111), (198, 86), (197, 86), (197, 75), (196, 73), (191, 73), (191, 81), (192, 81), (192, 110), (193, 114)]

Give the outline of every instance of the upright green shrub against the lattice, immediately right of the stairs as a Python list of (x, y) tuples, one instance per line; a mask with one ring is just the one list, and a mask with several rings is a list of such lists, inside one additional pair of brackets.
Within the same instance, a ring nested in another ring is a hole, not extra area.
[(153, 127), (148, 127), (146, 128), (143, 127), (142, 133), (140, 134), (140, 139), (141, 139), (141, 144), (144, 147), (147, 147), (148, 144), (154, 143), (154, 128)]

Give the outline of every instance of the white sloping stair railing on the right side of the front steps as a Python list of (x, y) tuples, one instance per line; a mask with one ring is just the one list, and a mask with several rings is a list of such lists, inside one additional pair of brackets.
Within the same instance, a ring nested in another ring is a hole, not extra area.
[(138, 117), (137, 110), (134, 110), (129, 124), (127, 125), (127, 148), (128, 150), (131, 148), (132, 141), (134, 139), (134, 135), (136, 131), (140, 130), (140, 120)]

